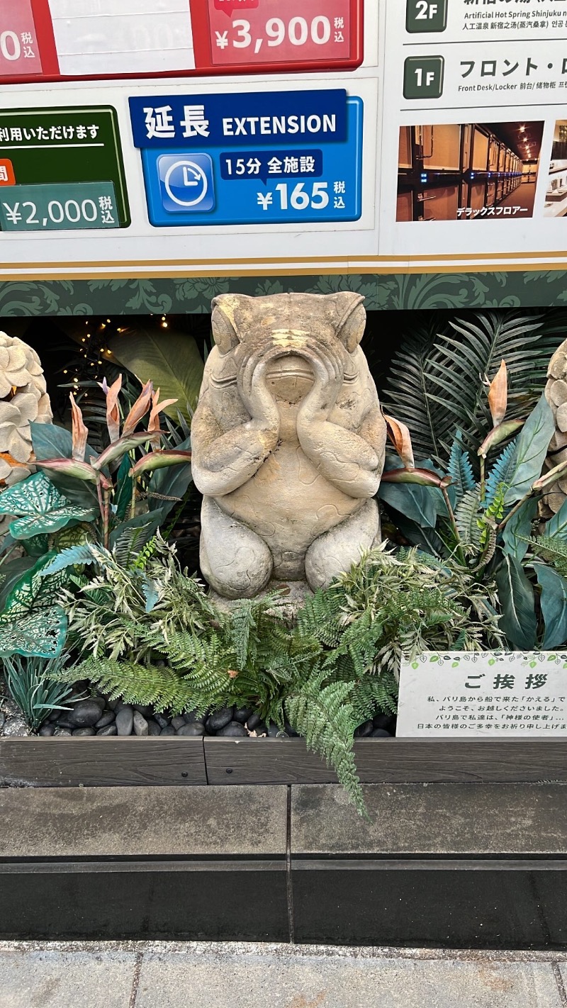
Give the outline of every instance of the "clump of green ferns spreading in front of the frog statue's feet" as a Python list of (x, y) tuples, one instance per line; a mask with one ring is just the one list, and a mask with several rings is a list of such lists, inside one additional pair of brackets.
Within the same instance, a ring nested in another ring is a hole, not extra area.
[(251, 707), (282, 730), (287, 721), (360, 810), (353, 732), (377, 711), (395, 713), (402, 656), (498, 638), (494, 615), (466, 598), (463, 575), (422, 562), (415, 550), (364, 555), (290, 625), (277, 593), (219, 609), (159, 535), (143, 566), (124, 569), (94, 544), (79, 548), (52, 563), (97, 565), (67, 596), (69, 639), (83, 660), (58, 680), (87, 678), (157, 711)]

